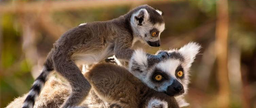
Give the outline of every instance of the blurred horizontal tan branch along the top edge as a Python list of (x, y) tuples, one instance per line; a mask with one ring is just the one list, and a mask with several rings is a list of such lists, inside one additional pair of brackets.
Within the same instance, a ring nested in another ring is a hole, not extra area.
[[(0, 13), (4, 12), (17, 12), (17, 11), (25, 11), (25, 12), (38, 12), (41, 11), (41, 7), (44, 5), (45, 2), (50, 2), (44, 9), (48, 9), (50, 11), (66, 11), (66, 10), (78, 10), (78, 9), (90, 9), (90, 8), (97, 8), (97, 7), (106, 7), (106, 6), (115, 6), (115, 5), (140, 5), (140, 4), (147, 4), (154, 2), (156, 4), (159, 3), (166, 3), (170, 1), (115, 1), (112, 2), (111, 0), (93, 0), (93, 1), (37, 1), (37, 2), (29, 2), (29, 3), (3, 3), (0, 4)], [(22, 5), (23, 9), (20, 10), (20, 6)]]

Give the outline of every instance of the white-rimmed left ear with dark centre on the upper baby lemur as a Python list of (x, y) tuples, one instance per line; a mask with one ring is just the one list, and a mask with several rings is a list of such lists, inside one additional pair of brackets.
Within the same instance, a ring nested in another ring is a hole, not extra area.
[(138, 26), (141, 26), (143, 22), (147, 21), (148, 19), (149, 13), (146, 9), (140, 9), (134, 15), (134, 22), (136, 22), (136, 25)]

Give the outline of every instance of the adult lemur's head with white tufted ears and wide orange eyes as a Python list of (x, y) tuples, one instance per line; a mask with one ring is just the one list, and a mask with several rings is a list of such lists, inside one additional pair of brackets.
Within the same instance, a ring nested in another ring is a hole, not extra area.
[(136, 50), (129, 70), (148, 87), (170, 96), (179, 96), (187, 92), (189, 68), (199, 49), (197, 43), (189, 43), (179, 50), (159, 51), (156, 54), (169, 53), (169, 57), (159, 62), (150, 61), (146, 53)]

